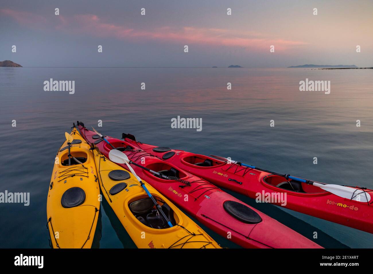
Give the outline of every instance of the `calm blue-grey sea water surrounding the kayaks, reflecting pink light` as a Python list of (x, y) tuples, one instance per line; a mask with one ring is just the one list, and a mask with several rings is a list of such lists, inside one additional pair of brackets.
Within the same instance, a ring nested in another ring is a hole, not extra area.
[[(31, 201), (28, 207), (0, 204), (0, 248), (49, 247), (48, 185), (64, 132), (76, 120), (96, 128), (102, 120), (98, 130), (117, 138), (132, 133), (154, 145), (373, 188), (372, 74), (355, 69), (1, 67), (0, 192), (30, 192)], [(50, 78), (74, 80), (75, 94), (44, 91), (43, 82)], [(299, 81), (306, 78), (331, 81), (330, 94), (300, 92)], [(202, 118), (202, 131), (171, 129), (177, 116)], [(372, 234), (230, 193), (310, 239), (318, 232), (315, 241), (324, 247), (373, 248)], [(102, 208), (96, 246), (134, 247), (108, 204)], [(206, 230), (222, 246), (235, 247)]]

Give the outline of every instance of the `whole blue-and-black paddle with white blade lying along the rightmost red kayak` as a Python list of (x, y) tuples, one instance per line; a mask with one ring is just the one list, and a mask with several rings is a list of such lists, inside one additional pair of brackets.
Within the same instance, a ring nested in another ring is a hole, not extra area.
[(330, 193), (333, 193), (334, 195), (337, 195), (337, 196), (342, 197), (342, 198), (347, 198), (347, 199), (351, 199), (351, 200), (358, 201), (358, 202), (369, 202), (370, 201), (369, 193), (367, 193), (364, 190), (357, 193), (359, 191), (359, 189), (350, 188), (348, 186), (316, 183), (316, 182), (312, 182), (312, 181), (309, 181), (309, 180), (294, 177), (294, 176), (291, 176), (289, 174), (280, 174), (280, 173), (272, 172), (272, 171), (269, 171), (269, 170), (266, 170), (266, 169), (260, 169), (258, 167), (250, 166), (248, 164), (242, 164), (242, 163), (239, 163), (237, 161), (229, 160), (228, 158), (224, 158), (224, 157), (221, 157), (221, 156), (216, 156), (216, 155), (210, 155), (210, 156), (212, 156), (216, 159), (219, 159), (219, 160), (229, 161), (233, 164), (238, 164), (240, 166), (250, 167), (251, 169), (257, 169), (257, 170), (260, 170), (260, 171), (264, 171), (264, 172), (272, 173), (272, 174), (275, 174), (275, 175), (279, 175), (279, 176), (285, 177), (286, 179), (292, 179), (292, 180), (295, 180), (295, 181), (298, 181), (298, 182), (307, 183), (309, 185), (314, 185), (314, 186), (317, 186), (321, 189), (324, 189), (324, 190), (326, 190)]

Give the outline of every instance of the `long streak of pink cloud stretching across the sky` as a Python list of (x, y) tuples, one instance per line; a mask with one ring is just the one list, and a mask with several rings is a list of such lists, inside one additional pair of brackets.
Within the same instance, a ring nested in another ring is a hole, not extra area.
[(29, 12), (9, 9), (0, 9), (0, 14), (15, 19), (20, 25), (40, 29), (52, 27), (58, 31), (72, 35), (89, 35), (99, 38), (116, 38), (129, 41), (156, 41), (181, 44), (240, 47), (248, 49), (269, 50), (275, 45), (276, 51), (299, 47), (307, 43), (279, 38), (266, 37), (264, 34), (254, 32), (237, 32), (229, 29), (196, 28), (185, 26), (175, 28), (163, 26), (151, 30), (136, 30), (123, 25), (115, 25), (99, 18), (97, 15), (84, 14), (66, 18), (57, 16), (57, 20), (48, 20), (44, 16)]

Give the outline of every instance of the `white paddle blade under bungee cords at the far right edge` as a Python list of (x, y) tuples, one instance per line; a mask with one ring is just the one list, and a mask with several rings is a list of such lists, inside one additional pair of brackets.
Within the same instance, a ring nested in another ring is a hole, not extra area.
[(364, 192), (361, 189), (349, 188), (348, 186), (340, 185), (323, 185), (320, 183), (313, 183), (314, 186), (318, 186), (330, 193), (333, 193), (342, 198), (351, 199), (358, 202), (369, 202), (370, 195), (367, 192)]

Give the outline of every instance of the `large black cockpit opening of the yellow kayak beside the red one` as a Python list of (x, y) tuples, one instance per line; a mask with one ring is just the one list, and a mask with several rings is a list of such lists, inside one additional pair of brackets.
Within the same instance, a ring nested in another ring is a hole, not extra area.
[[(154, 199), (161, 206), (162, 211), (173, 226), (179, 223), (177, 215), (174, 214), (172, 208), (166, 204), (161, 198), (153, 194)], [(147, 227), (153, 229), (167, 229), (169, 225), (162, 214), (157, 210), (154, 202), (149, 197), (137, 196), (128, 203), (129, 210), (134, 217)]]

